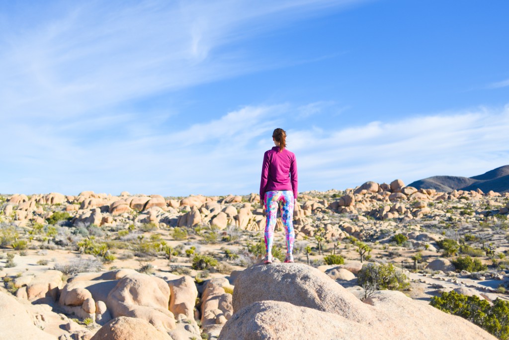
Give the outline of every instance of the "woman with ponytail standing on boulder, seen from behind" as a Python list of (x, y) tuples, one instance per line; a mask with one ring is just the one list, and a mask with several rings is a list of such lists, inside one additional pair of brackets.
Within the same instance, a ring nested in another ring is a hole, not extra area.
[(281, 220), (285, 225), (287, 253), (285, 262), (293, 262), (293, 208), (297, 202), (297, 160), (295, 154), (286, 149), (286, 131), (275, 129), (272, 133), (275, 147), (263, 156), (260, 204), (265, 204), (267, 223), (265, 226), (264, 262), (272, 263), (272, 244), (276, 225), (277, 204), (281, 201)]

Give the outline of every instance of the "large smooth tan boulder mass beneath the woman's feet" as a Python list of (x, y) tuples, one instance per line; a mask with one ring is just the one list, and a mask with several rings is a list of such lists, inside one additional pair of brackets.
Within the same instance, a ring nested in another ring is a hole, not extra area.
[(220, 339), (495, 339), (401, 292), (382, 291), (364, 303), (318, 269), (296, 263), (244, 270), (233, 307)]

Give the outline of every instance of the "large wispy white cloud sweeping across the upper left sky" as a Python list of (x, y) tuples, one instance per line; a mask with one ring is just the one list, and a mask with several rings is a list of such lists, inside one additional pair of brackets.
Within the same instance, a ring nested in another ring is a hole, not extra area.
[[(77, 5), (56, 19), (0, 32), (0, 100), (10, 115), (76, 117), (163, 91), (280, 67), (280, 61), (262, 55), (246, 58), (233, 44), (359, 2)], [(18, 27), (22, 18), (11, 20)]]

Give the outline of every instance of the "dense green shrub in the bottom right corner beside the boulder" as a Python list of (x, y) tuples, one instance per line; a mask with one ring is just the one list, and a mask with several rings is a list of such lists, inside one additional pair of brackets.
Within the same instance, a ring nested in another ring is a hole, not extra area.
[(430, 304), (445, 313), (467, 319), (499, 339), (509, 339), (509, 301), (496, 299), (491, 305), (475, 295), (450, 291), (442, 293), (440, 297), (432, 297)]

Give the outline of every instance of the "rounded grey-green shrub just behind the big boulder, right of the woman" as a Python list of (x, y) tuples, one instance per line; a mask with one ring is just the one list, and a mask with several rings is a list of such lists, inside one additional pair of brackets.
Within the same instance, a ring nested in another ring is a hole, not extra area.
[(364, 289), (364, 298), (377, 290), (405, 290), (410, 287), (408, 277), (395, 268), (392, 263), (368, 263), (358, 273), (358, 284)]

